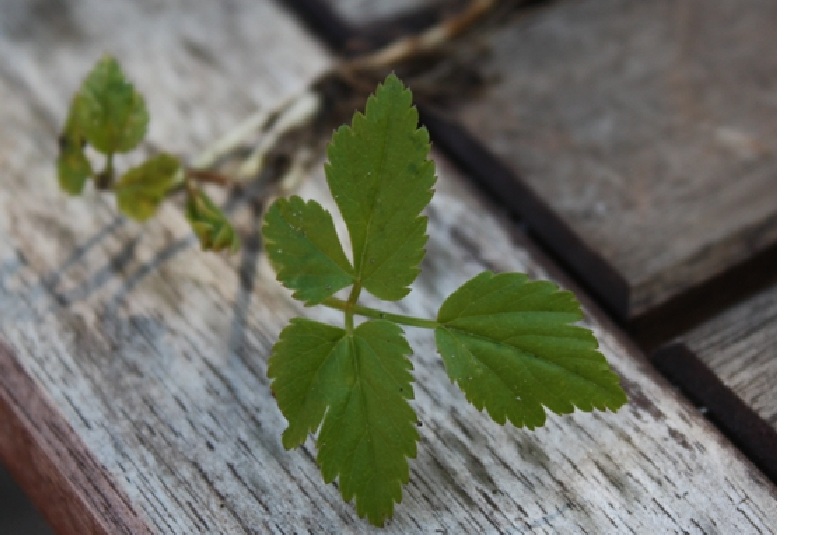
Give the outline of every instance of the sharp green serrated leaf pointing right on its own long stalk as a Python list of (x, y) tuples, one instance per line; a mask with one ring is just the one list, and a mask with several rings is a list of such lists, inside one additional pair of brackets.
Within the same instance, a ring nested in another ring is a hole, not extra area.
[(441, 305), (435, 330), (450, 379), (496, 422), (530, 429), (545, 405), (616, 410), (626, 402), (574, 296), (522, 273), (474, 277)]

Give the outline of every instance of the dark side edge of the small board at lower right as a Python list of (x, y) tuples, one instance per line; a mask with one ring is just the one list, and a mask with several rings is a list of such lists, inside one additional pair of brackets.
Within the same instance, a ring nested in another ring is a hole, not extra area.
[(654, 366), (697, 405), (737, 448), (776, 483), (776, 431), (686, 346), (672, 342), (651, 356)]

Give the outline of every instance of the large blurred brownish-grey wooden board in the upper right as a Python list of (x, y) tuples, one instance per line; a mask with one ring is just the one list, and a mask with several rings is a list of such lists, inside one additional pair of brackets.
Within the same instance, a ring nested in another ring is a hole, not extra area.
[(625, 317), (775, 243), (774, 0), (550, 2), (486, 44), (458, 119), (624, 279)]

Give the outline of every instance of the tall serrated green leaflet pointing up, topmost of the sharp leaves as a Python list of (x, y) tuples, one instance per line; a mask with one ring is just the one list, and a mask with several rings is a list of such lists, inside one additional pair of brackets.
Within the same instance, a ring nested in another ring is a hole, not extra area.
[(424, 257), (420, 213), (435, 183), (429, 134), (418, 128), (410, 91), (388, 76), (366, 113), (335, 132), (327, 153), (327, 183), (350, 231), (356, 279), (381, 299), (404, 297)]

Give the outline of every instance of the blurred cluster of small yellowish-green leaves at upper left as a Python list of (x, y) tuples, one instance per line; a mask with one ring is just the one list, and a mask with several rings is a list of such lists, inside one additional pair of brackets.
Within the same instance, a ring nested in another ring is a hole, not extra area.
[[(89, 178), (100, 190), (116, 195), (119, 210), (137, 220), (154, 215), (169, 194), (184, 189), (185, 215), (205, 250), (238, 247), (236, 232), (224, 213), (196, 184), (190, 169), (176, 156), (159, 153), (117, 176), (114, 158), (133, 151), (148, 130), (145, 100), (125, 78), (119, 63), (104, 56), (74, 95), (60, 135), (57, 178), (70, 195), (82, 193)], [(95, 171), (89, 145), (102, 158)]]

